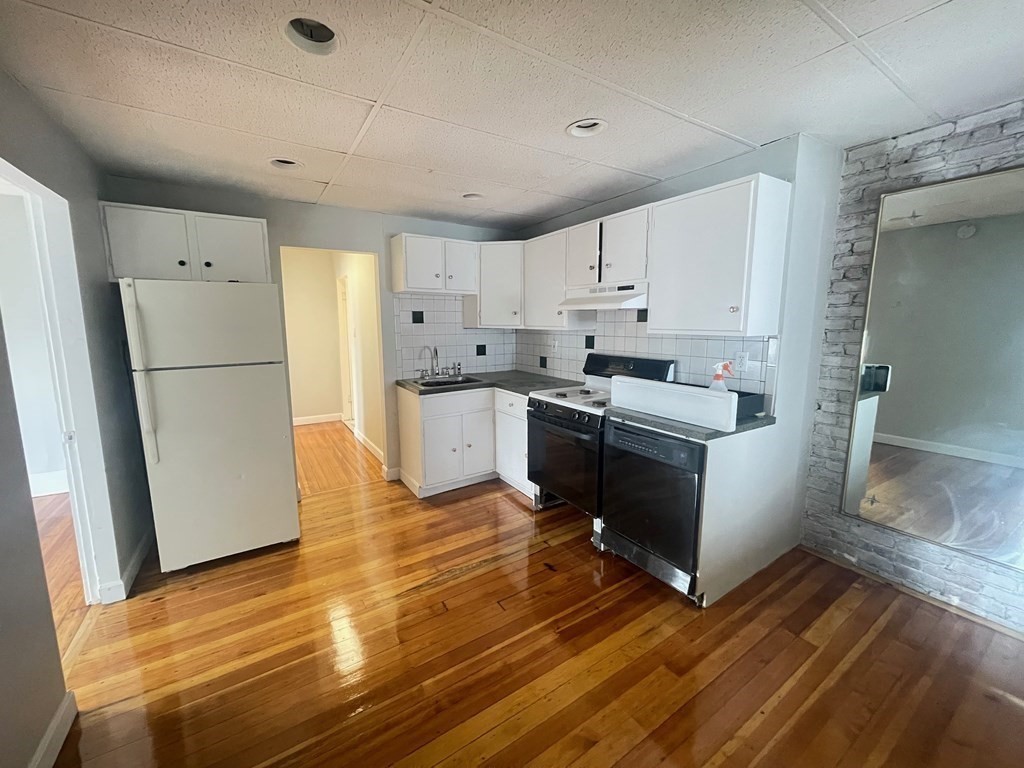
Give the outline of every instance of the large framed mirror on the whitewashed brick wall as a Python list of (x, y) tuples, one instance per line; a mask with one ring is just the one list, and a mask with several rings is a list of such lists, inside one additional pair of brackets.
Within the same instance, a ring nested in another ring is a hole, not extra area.
[(1024, 568), (1024, 169), (887, 195), (844, 511)]

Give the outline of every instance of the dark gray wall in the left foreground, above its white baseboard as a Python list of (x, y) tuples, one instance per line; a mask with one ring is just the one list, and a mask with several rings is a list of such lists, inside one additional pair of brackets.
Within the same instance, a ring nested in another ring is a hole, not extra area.
[(65, 680), (2, 333), (0, 456), (0, 762), (24, 766), (63, 699)]

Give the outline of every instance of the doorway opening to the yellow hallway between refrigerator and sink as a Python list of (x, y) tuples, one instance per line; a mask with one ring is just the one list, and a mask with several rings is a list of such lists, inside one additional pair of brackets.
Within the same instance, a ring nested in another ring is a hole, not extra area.
[(383, 476), (378, 255), (281, 249), (288, 369), (303, 497)]

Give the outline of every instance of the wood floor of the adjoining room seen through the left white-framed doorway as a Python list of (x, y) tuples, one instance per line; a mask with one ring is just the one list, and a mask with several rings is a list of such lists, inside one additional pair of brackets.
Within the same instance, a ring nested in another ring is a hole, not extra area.
[(85, 621), (89, 606), (82, 590), (82, 570), (78, 564), (75, 523), (71, 516), (68, 494), (41, 496), (32, 500), (36, 511), (36, 526), (43, 550), (46, 586), (53, 607), (53, 624), (57, 629), (60, 655), (67, 654), (75, 635)]

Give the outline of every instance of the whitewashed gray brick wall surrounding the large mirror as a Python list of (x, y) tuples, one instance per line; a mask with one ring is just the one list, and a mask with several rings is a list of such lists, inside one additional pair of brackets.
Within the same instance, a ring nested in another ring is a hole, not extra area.
[(1024, 631), (1024, 573), (840, 512), (879, 198), (1024, 166), (1024, 101), (847, 151), (811, 438), (804, 543)]

